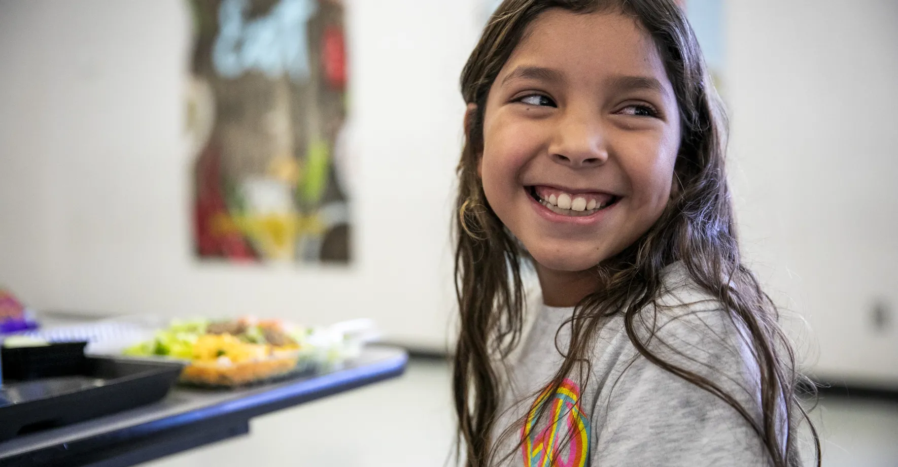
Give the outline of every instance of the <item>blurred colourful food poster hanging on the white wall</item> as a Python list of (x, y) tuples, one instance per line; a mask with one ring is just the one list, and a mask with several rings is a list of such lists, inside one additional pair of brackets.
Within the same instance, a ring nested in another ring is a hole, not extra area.
[(189, 0), (200, 259), (348, 263), (341, 0)]

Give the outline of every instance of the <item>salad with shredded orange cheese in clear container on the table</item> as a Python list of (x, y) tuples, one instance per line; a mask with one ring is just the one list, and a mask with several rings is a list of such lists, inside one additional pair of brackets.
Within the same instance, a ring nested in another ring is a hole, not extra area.
[(339, 365), (357, 354), (360, 345), (344, 328), (305, 328), (251, 317), (224, 322), (173, 321), (154, 339), (127, 348), (125, 355), (187, 359), (182, 381), (238, 386), (313, 365)]

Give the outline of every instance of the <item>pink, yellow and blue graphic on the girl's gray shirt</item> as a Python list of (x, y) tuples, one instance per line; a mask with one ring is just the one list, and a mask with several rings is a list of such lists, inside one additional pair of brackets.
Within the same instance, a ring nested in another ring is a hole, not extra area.
[[(543, 405), (550, 424), (536, 427)], [(589, 459), (589, 420), (580, 410), (580, 387), (565, 378), (550, 398), (549, 388), (533, 402), (521, 429), (524, 467), (585, 467)]]

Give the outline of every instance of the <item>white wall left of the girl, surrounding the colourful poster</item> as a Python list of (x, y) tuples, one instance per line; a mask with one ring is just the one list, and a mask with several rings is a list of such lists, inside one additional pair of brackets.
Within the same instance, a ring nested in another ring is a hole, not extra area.
[(361, 170), (348, 269), (193, 259), (186, 4), (0, 4), (0, 282), (40, 309), (373, 316), (393, 339), (445, 345), (474, 4), (348, 2)]

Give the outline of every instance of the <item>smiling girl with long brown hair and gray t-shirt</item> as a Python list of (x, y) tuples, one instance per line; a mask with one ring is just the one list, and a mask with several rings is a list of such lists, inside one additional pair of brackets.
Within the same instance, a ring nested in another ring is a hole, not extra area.
[(741, 262), (725, 118), (674, 1), (506, 0), (462, 95), (464, 463), (800, 464), (795, 357)]

